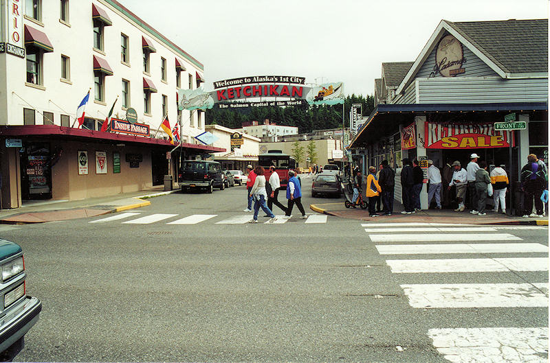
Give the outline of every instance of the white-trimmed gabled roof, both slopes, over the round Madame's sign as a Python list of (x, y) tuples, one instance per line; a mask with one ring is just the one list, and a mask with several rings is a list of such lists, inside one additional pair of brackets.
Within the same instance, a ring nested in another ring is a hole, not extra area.
[(548, 20), (442, 20), (399, 84), (401, 93), (415, 78), (445, 33), (454, 36), (502, 78), (548, 78)]

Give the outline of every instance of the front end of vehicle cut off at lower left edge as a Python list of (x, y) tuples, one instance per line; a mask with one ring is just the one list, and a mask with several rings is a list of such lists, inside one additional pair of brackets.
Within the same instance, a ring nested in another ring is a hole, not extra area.
[(0, 239), (0, 265), (0, 360), (11, 362), (25, 345), (25, 333), (39, 320), (42, 303), (27, 295), (23, 250), (18, 244)]

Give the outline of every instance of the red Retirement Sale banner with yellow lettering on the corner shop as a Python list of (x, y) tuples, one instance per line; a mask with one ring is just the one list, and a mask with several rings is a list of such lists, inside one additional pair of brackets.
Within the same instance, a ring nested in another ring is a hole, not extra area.
[(426, 122), (426, 149), (489, 149), (514, 146), (511, 132), (494, 124), (435, 124)]

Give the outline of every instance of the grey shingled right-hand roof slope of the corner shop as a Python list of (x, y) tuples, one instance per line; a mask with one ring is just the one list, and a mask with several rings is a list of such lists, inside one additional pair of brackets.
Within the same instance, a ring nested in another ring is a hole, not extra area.
[(506, 73), (548, 71), (548, 19), (445, 22)]

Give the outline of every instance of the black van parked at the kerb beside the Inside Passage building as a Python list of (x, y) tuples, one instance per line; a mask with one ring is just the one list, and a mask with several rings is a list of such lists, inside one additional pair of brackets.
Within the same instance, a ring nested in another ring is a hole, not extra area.
[(181, 162), (178, 174), (182, 191), (203, 189), (212, 193), (214, 188), (225, 189), (225, 174), (217, 161), (186, 160)]

